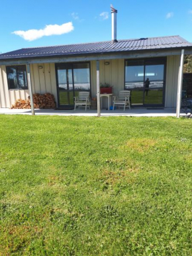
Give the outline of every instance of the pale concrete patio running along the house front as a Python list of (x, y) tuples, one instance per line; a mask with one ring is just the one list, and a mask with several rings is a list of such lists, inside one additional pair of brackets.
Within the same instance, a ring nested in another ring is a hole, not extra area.
[[(6, 115), (31, 115), (30, 109), (8, 109), (1, 108), (0, 114)], [(64, 115), (64, 116), (97, 116), (97, 110), (87, 110), (78, 109), (74, 110), (55, 110), (55, 109), (35, 109), (35, 115)], [(185, 113), (181, 111), (181, 116)], [(147, 108), (132, 108), (117, 109), (115, 111), (101, 110), (101, 116), (132, 116), (132, 117), (176, 117), (175, 108), (165, 108), (165, 109), (147, 109)]]

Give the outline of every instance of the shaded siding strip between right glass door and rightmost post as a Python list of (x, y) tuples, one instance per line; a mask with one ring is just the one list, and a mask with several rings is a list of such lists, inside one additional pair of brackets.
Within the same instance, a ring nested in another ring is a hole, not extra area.
[(177, 86), (181, 56), (168, 56), (166, 71), (166, 97), (165, 107), (176, 107)]

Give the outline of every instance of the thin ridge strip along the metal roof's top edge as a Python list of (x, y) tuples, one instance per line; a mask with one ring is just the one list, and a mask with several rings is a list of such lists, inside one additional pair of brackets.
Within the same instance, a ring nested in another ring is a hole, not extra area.
[[(144, 39), (154, 39), (154, 38), (166, 38), (166, 37), (176, 37), (179, 36), (179, 34), (177, 35), (173, 35), (173, 36), (153, 36), (153, 37), (141, 37), (141, 38), (130, 38), (130, 39), (120, 39), (117, 40), (117, 42), (125, 42), (125, 41), (135, 41), (135, 40), (144, 40)], [(179, 36), (181, 37), (181, 36)], [(185, 40), (185, 38), (181, 37), (183, 40)], [(188, 42), (187, 40), (185, 40), (186, 42)], [(95, 42), (77, 42), (75, 44), (56, 44), (56, 45), (50, 45), (50, 46), (36, 46), (36, 47), (25, 47), (25, 48), (21, 48), (21, 49), (36, 49), (36, 48), (46, 48), (46, 47), (57, 47), (57, 46), (71, 46), (71, 45), (81, 45), (81, 44), (97, 44), (97, 43), (103, 43), (103, 42), (111, 42), (112, 44), (114, 44), (114, 42), (112, 42), (111, 40), (107, 40), (107, 41), (95, 41)], [(17, 49), (19, 50), (19, 49)], [(14, 52), (15, 50), (11, 51)], [(6, 53), (6, 52), (5, 52)], [(1, 54), (0, 54), (1, 55)]]

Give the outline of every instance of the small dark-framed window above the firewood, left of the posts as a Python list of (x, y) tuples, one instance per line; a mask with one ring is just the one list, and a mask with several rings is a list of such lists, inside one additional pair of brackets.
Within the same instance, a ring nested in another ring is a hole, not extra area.
[(9, 89), (28, 89), (26, 66), (7, 66)]

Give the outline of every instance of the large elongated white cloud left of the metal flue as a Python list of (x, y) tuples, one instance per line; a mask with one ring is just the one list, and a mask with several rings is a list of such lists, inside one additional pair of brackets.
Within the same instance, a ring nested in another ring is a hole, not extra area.
[(66, 34), (73, 31), (73, 23), (64, 23), (62, 25), (46, 25), (44, 29), (30, 29), (28, 31), (14, 31), (12, 34), (17, 34), (24, 38), (24, 40), (32, 41), (42, 36), (52, 36), (55, 34)]

